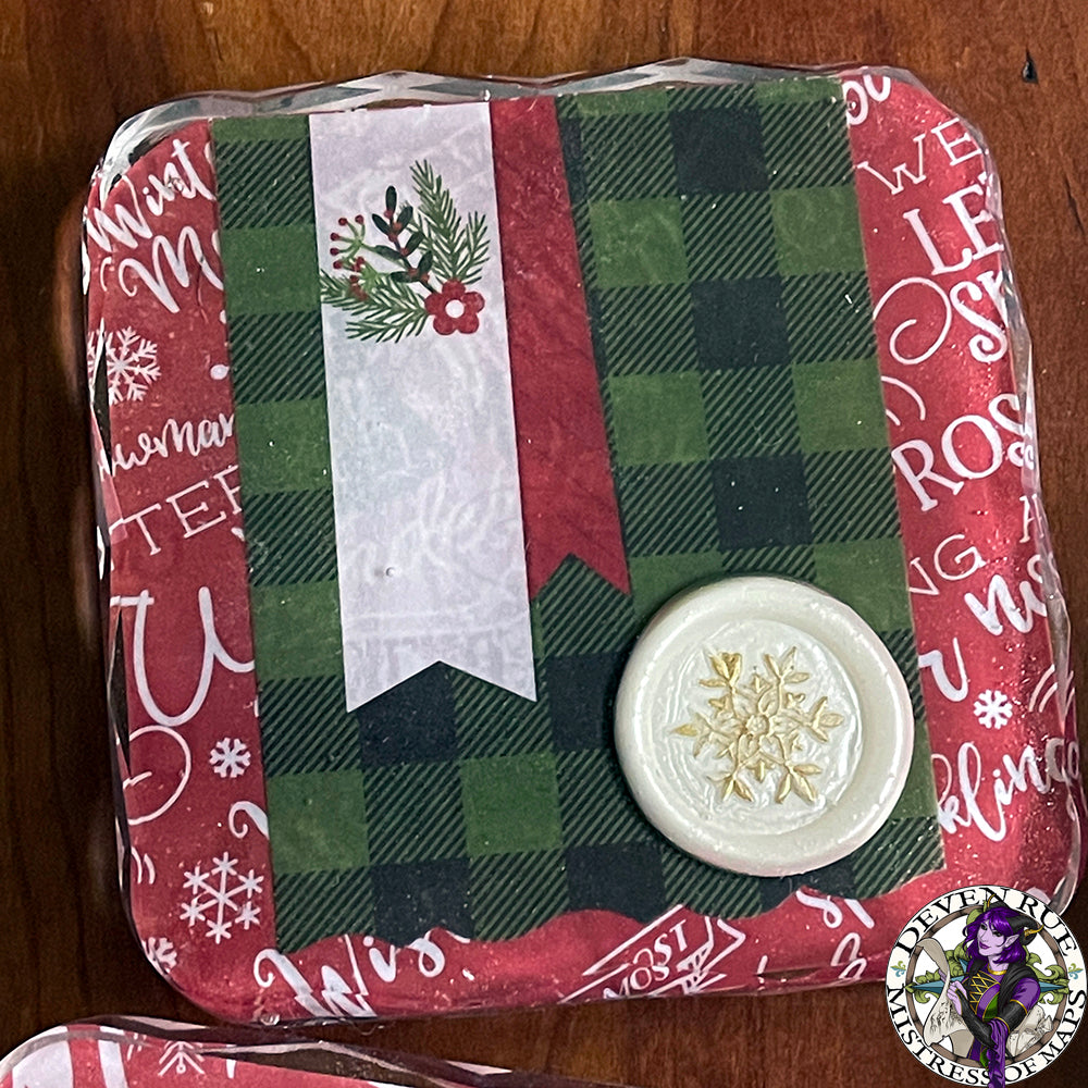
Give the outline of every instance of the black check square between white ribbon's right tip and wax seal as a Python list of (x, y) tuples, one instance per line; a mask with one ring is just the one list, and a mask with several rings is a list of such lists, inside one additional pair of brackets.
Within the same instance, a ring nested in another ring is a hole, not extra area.
[(613, 704), (626, 660), (625, 653), (613, 652), (549, 657), (544, 663), (557, 752), (610, 747)]

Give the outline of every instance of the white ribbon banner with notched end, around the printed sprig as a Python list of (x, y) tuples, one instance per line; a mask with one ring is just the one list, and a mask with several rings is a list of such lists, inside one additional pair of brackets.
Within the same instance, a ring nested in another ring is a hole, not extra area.
[(310, 146), (323, 271), (344, 275), (342, 219), (362, 215), (367, 243), (388, 245), (371, 217), (391, 185), (418, 209), (411, 170), (424, 161), (462, 219), (484, 215), (489, 239), (468, 288), (484, 298), (473, 332), (442, 335), (429, 316), (378, 343), (349, 335), (358, 314), (322, 306), (348, 709), (435, 662), (535, 698), (487, 107), (314, 114)]

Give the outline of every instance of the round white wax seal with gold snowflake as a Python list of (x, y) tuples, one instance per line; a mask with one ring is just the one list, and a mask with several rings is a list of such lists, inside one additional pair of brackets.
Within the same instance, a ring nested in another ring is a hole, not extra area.
[(712, 865), (780, 877), (868, 841), (906, 782), (914, 712), (885, 644), (803, 582), (681, 594), (639, 639), (616, 745), (643, 813)]

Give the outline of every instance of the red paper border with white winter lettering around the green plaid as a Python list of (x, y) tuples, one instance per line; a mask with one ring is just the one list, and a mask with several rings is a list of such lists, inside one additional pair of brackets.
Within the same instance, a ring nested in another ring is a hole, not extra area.
[[(119, 629), (126, 651), (123, 877), (149, 960), (190, 999), (274, 1023), (787, 990), (880, 977), (902, 923), (951, 888), (1068, 901), (1084, 795), (997, 178), (969, 127), (910, 78), (841, 79), (947, 867), (865, 902), (802, 889), (743, 920), (589, 911), (505, 942), (436, 929), (401, 949), (366, 935), (273, 947), (208, 124), (96, 184), (88, 360), (115, 401), (99, 461), (108, 660)], [(193, 927), (197, 910), (218, 928)]]

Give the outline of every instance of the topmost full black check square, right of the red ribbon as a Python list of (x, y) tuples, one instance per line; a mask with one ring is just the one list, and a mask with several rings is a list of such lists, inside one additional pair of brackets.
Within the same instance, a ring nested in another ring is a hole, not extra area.
[(669, 125), (681, 194), (767, 188), (759, 110), (754, 102), (670, 113)]

